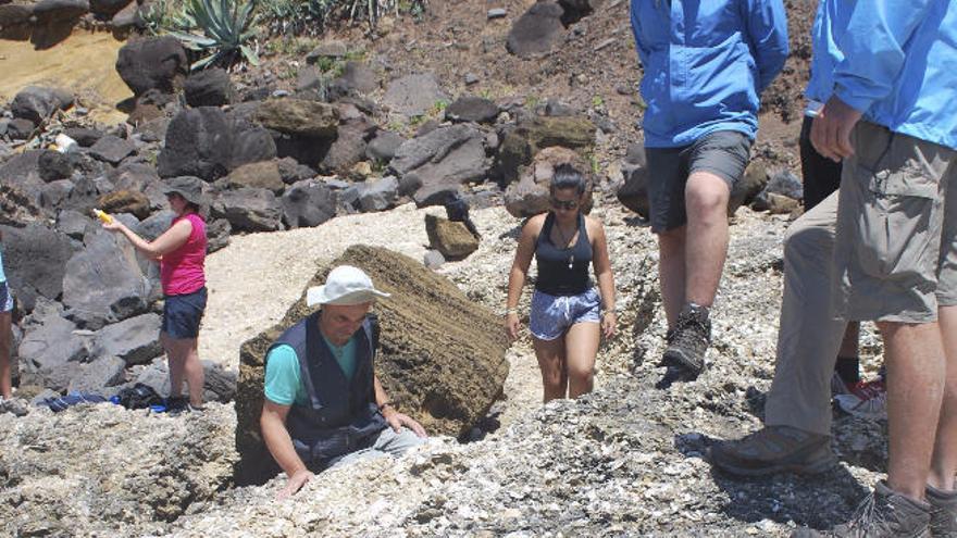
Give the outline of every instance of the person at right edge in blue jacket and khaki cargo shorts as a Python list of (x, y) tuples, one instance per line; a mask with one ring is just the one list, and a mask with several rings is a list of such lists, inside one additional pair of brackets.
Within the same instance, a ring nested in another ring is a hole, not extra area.
[(832, 288), (877, 322), (887, 479), (838, 536), (957, 536), (957, 2), (858, 2), (811, 128), (843, 161)]

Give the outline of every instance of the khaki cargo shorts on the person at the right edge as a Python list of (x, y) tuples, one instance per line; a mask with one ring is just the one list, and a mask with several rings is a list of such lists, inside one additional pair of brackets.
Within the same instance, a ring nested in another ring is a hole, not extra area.
[(832, 291), (849, 321), (928, 323), (957, 304), (957, 151), (860, 122), (844, 161)]

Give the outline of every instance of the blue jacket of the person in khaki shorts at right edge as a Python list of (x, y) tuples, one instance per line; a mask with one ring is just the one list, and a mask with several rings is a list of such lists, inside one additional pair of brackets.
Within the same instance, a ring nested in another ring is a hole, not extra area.
[(834, 93), (891, 130), (957, 149), (957, 1), (858, 2)]

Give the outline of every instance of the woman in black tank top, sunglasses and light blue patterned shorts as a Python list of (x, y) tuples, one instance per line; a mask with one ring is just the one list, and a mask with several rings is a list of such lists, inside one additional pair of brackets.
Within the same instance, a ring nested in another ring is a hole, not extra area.
[[(561, 164), (555, 168), (549, 195), (551, 211), (529, 218), (522, 227), (509, 273), (505, 321), (509, 337), (518, 338), (519, 298), (534, 257), (538, 275), (529, 325), (546, 402), (592, 391), (601, 334), (610, 338), (616, 324), (605, 228), (581, 212), (585, 179), (572, 166)], [(597, 291), (589, 265), (595, 270)]]

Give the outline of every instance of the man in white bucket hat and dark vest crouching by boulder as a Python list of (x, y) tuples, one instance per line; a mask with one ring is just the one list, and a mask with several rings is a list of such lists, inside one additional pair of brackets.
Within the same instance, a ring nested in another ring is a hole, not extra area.
[(289, 478), (281, 498), (296, 493), (312, 471), (400, 455), (423, 442), (425, 430), (388, 401), (373, 368), (378, 322), (370, 310), (387, 297), (362, 270), (340, 265), (306, 292), (306, 304), (321, 309), (270, 347), (260, 427)]

